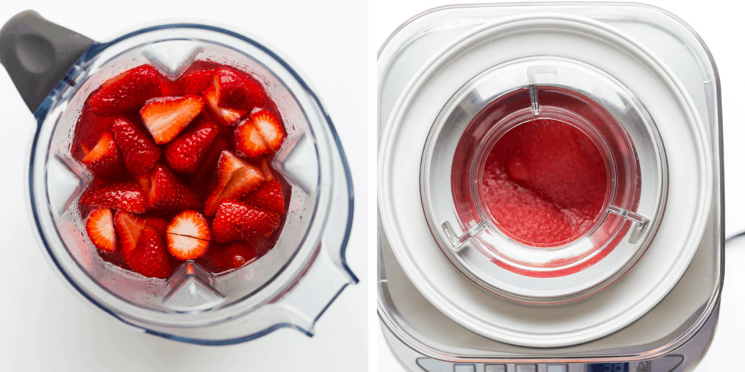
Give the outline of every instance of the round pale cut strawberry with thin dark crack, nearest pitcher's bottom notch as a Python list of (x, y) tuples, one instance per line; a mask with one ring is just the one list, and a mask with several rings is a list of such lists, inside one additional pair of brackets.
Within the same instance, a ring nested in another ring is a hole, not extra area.
[(194, 260), (207, 251), (209, 227), (204, 216), (195, 211), (177, 214), (165, 228), (168, 251), (179, 260)]

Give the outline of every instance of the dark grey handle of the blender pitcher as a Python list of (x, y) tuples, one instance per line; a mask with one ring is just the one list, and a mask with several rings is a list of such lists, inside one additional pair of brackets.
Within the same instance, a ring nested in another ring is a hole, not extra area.
[(25, 10), (0, 29), (0, 63), (28, 109), (36, 112), (92, 44), (92, 39)]

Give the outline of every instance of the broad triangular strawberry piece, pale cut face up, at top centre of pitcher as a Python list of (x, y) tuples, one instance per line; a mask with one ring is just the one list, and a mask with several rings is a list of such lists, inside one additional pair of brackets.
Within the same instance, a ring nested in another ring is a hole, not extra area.
[(140, 109), (140, 115), (156, 144), (165, 144), (179, 135), (202, 112), (203, 107), (202, 97), (194, 94), (159, 97), (148, 100)]

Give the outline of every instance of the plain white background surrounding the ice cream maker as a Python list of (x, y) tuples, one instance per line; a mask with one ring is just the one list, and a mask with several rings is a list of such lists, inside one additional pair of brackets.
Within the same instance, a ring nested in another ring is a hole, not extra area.
[[(470, 0), (469, 3), (486, 1)], [(493, 1), (492, 1), (493, 2)], [(510, 2), (527, 2), (511, 0)], [(740, 1), (647, 0), (691, 25), (706, 42), (719, 69), (722, 86), (724, 154), (726, 174), (726, 235), (745, 231), (745, 120), (741, 114), (745, 100), (743, 61), (744, 6)], [(376, 0), (370, 2), (370, 49), (377, 53), (385, 39), (410, 17), (447, 0)], [(696, 371), (738, 371), (735, 365), (745, 342), (745, 238), (726, 248), (726, 276), (717, 334)], [(404, 371), (393, 359), (382, 333), (377, 330), (377, 371)]]

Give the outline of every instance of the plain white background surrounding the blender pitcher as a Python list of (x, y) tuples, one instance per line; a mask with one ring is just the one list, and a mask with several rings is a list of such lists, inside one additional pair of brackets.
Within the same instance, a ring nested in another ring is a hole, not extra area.
[(355, 186), (347, 248), (349, 286), (316, 324), (316, 336), (282, 329), (255, 341), (203, 347), (138, 333), (64, 286), (37, 246), (25, 202), (34, 120), (0, 71), (2, 172), (0, 371), (367, 370), (367, 4), (358, 1), (2, 1), (0, 24), (22, 10), (107, 40), (143, 23), (217, 22), (258, 36), (305, 75), (334, 121)]

